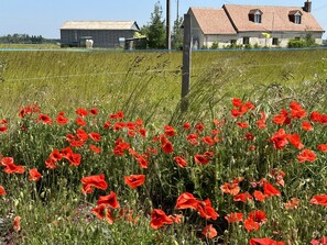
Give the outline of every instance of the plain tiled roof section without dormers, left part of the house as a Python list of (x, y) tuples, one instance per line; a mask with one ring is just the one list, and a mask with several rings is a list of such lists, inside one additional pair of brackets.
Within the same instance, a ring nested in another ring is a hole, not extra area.
[(224, 9), (190, 8), (204, 34), (237, 34)]

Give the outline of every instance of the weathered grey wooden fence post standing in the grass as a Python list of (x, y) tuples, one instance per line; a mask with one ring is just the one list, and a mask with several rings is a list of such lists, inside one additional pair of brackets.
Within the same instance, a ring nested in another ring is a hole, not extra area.
[(189, 92), (190, 52), (192, 52), (190, 15), (184, 14), (182, 99), (181, 99), (181, 111), (182, 112), (186, 111), (188, 108), (188, 101), (187, 101), (186, 96)]

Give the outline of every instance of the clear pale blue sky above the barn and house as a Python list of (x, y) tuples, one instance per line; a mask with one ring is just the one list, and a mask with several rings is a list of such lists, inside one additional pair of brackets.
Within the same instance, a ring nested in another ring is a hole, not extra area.
[[(179, 0), (179, 15), (189, 7), (220, 8), (222, 4), (302, 7), (305, 0)], [(140, 27), (150, 21), (157, 0), (7, 0), (0, 8), (0, 35), (30, 34), (59, 38), (59, 27), (68, 20), (134, 20)], [(159, 1), (165, 18), (165, 0)], [(312, 0), (313, 14), (327, 31), (327, 1)], [(171, 0), (172, 21), (177, 0)], [(325, 33), (324, 38), (327, 38)]]

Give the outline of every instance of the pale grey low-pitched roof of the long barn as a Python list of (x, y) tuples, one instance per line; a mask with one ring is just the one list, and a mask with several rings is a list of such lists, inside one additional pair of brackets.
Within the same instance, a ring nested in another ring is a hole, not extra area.
[(61, 30), (133, 30), (140, 27), (135, 21), (66, 21)]

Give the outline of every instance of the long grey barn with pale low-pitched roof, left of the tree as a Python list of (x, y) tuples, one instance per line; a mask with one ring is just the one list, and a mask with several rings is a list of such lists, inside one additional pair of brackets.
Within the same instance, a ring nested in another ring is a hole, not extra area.
[(83, 46), (85, 40), (92, 40), (94, 47), (116, 48), (139, 31), (135, 21), (66, 21), (61, 27), (61, 44)]

